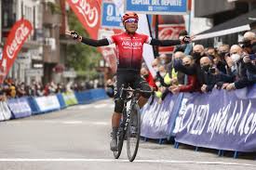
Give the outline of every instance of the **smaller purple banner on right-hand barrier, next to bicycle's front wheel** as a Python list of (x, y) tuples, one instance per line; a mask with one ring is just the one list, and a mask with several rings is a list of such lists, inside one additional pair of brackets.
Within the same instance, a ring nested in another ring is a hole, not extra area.
[(170, 136), (176, 118), (173, 111), (180, 106), (177, 103), (178, 98), (179, 95), (168, 95), (161, 104), (156, 98), (153, 105), (147, 103), (141, 109), (141, 137), (168, 138)]

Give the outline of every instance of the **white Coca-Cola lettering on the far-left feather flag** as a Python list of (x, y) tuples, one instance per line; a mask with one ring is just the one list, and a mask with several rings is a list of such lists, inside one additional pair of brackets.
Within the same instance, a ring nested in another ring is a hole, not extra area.
[(25, 39), (25, 37), (29, 34), (30, 29), (26, 27), (24, 24), (21, 24), (17, 29), (14, 39), (11, 44), (7, 46), (7, 57), (9, 59), (14, 58), (15, 52), (19, 49), (20, 44)]

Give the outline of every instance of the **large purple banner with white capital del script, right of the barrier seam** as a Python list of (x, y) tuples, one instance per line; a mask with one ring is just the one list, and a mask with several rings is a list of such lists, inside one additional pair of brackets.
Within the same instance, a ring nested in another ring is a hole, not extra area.
[(185, 94), (174, 132), (197, 147), (256, 151), (256, 88)]

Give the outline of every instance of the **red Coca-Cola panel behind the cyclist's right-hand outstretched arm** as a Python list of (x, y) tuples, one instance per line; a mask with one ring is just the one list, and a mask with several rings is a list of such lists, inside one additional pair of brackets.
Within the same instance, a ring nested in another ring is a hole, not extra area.
[[(177, 40), (179, 33), (185, 29), (184, 24), (161, 24), (158, 25), (159, 40)], [(174, 46), (160, 46), (159, 53), (172, 53)]]

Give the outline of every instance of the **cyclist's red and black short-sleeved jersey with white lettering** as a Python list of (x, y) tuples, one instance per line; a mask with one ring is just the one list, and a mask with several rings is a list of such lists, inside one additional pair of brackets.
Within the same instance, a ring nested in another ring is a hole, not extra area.
[(152, 38), (145, 34), (119, 33), (108, 38), (109, 44), (115, 44), (117, 49), (117, 71), (141, 70), (143, 44), (150, 44)]

